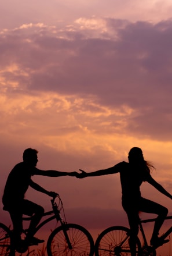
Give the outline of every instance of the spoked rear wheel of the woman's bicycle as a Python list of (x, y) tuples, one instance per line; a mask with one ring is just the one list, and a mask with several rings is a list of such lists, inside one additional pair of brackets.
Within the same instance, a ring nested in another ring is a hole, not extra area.
[[(96, 256), (130, 256), (130, 229), (123, 226), (112, 226), (105, 229), (95, 243)], [(141, 255), (141, 243), (137, 239), (137, 256)]]

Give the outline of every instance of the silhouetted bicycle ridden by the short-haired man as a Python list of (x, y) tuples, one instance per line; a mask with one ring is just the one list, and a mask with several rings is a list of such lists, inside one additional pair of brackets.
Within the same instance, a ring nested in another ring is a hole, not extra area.
[[(58, 198), (58, 199), (56, 199)], [(58, 200), (58, 203), (56, 201)], [(47, 239), (47, 255), (48, 256), (93, 256), (94, 241), (91, 234), (78, 224), (67, 223), (63, 202), (57, 194), (51, 200), (52, 211), (45, 212), (44, 216), (48, 216), (44, 221), (36, 227), (36, 232), (46, 223), (56, 219), (60, 222), (60, 226), (56, 227)], [(64, 220), (61, 216), (63, 211)], [(52, 215), (52, 216), (49, 216)], [(24, 221), (30, 221), (32, 217), (24, 217)], [(0, 256), (15, 255), (17, 253), (25, 253), (30, 245), (21, 246), (19, 248), (12, 247), (12, 231), (10, 227), (0, 223)], [(36, 233), (35, 232), (35, 233)], [(23, 230), (27, 234), (27, 230)]]

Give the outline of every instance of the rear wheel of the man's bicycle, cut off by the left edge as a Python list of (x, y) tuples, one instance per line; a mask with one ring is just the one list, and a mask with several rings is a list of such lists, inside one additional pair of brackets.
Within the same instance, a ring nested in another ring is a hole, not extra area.
[(8, 256), (10, 253), (10, 230), (0, 223), (0, 256)]

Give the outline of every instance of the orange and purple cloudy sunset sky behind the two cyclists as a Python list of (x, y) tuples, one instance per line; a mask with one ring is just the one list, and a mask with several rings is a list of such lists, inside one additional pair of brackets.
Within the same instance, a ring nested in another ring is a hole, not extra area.
[[(171, 13), (171, 0), (1, 1), (1, 195), (28, 147), (39, 169), (67, 172), (111, 167), (140, 147), (172, 193)], [(128, 225), (119, 175), (33, 180), (92, 234)], [(141, 191), (172, 212), (149, 184)], [(47, 195), (27, 198), (49, 209)]]

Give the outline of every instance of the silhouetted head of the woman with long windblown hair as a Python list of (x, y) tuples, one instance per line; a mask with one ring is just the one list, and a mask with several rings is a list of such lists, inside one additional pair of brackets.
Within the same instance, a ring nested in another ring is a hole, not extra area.
[(146, 170), (149, 173), (150, 169), (155, 169), (151, 162), (145, 161), (141, 148), (131, 148), (131, 150), (129, 151), (128, 159), (131, 165), (137, 166), (143, 170)]

